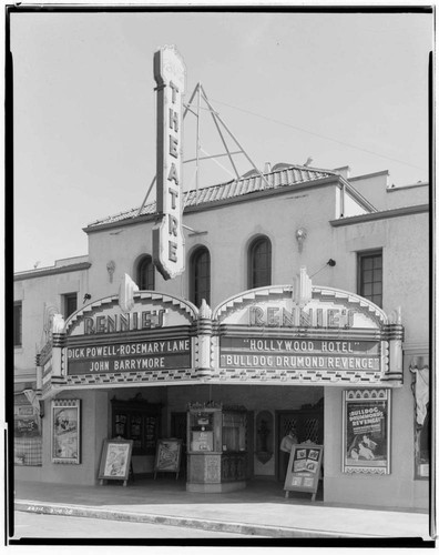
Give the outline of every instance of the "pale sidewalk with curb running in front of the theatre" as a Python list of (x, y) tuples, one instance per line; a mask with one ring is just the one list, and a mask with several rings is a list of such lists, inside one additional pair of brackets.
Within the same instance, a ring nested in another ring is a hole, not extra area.
[[(184, 481), (157, 477), (103, 486), (17, 482), (16, 511), (171, 524), (276, 538), (422, 538), (426, 513), (336, 506), (285, 492), (279, 483), (252, 482), (226, 494), (187, 493)], [(195, 534), (194, 534), (195, 537)]]

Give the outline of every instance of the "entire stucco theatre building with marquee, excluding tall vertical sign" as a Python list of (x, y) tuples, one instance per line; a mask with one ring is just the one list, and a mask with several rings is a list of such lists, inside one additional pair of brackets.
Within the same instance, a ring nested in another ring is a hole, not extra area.
[(147, 488), (177, 438), (176, 483), (221, 495), (283, 483), (293, 431), (324, 447), (324, 502), (427, 508), (428, 190), (267, 164), (184, 193), (173, 279), (153, 264), (155, 203), (17, 273), (16, 480), (98, 484), (119, 437)]

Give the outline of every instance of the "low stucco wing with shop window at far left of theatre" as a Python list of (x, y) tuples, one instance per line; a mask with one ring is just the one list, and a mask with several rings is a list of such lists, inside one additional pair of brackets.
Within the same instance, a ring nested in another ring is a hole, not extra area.
[[(51, 334), (53, 314), (67, 319), (82, 303), (90, 264), (86, 256), (59, 260), (54, 266), (14, 275), (14, 460), (20, 465), (42, 464), (40, 401), (35, 355)], [(33, 406), (32, 406), (33, 404)]]

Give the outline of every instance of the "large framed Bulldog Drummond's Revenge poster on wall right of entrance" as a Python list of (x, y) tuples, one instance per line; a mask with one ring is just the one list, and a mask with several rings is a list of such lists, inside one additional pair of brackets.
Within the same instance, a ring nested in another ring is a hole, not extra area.
[(390, 390), (344, 391), (341, 471), (390, 474)]

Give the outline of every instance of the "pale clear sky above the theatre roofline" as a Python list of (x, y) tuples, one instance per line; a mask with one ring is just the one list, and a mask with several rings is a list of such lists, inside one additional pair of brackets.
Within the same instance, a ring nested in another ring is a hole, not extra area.
[[(174, 44), (254, 164), (428, 180), (428, 13), (11, 13), (14, 271), (88, 253), (89, 223), (140, 206), (155, 175), (153, 54)], [(202, 105), (203, 108), (203, 105)], [(223, 152), (202, 110), (203, 151)], [(239, 150), (226, 133), (232, 150)], [(184, 158), (195, 154), (195, 118)], [(232, 179), (218, 160), (200, 186)], [(241, 174), (251, 162), (236, 157)], [(183, 189), (195, 188), (185, 164)], [(154, 192), (149, 202), (155, 200)]]

